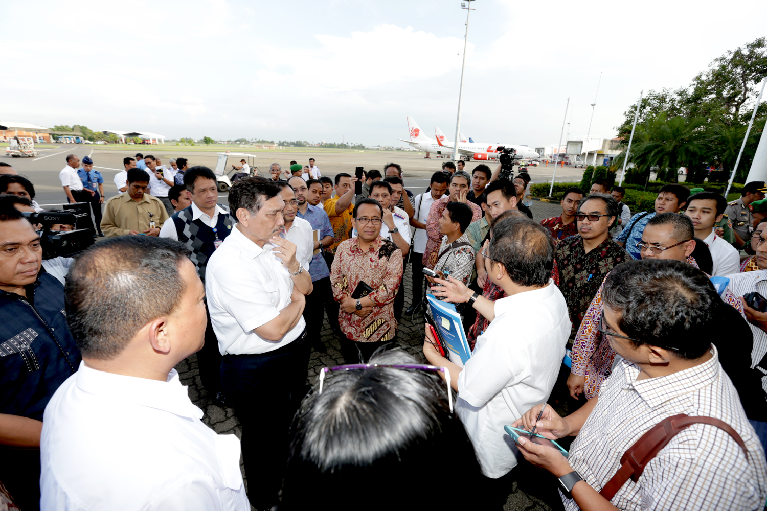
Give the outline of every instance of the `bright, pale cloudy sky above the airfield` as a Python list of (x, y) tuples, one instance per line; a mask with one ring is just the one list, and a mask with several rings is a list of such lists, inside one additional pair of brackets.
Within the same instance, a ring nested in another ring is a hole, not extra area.
[[(532, 147), (558, 142), (568, 97), (565, 135), (615, 136), (640, 90), (690, 84), (767, 26), (764, 0), (471, 5), (460, 131)], [(432, 137), (456, 130), (461, 0), (2, 0), (0, 11), (0, 120), (384, 146), (408, 138), (408, 115)]]

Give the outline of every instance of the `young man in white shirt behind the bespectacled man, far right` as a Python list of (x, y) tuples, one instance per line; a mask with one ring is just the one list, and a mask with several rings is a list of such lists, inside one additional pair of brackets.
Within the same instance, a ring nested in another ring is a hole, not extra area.
[(703, 240), (711, 252), (711, 277), (724, 277), (740, 270), (740, 256), (736, 248), (714, 234), (714, 224), (722, 220), (726, 207), (726, 199), (714, 192), (699, 192), (687, 199), (685, 215), (693, 221), (695, 237)]

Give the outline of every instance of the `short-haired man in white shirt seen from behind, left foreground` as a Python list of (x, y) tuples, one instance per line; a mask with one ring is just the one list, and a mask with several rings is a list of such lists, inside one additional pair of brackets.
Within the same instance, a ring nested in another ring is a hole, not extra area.
[(183, 246), (101, 242), (67, 286), (83, 362), (45, 408), (41, 509), (250, 509), (239, 440), (202, 423), (173, 369), (205, 332), (205, 290)]

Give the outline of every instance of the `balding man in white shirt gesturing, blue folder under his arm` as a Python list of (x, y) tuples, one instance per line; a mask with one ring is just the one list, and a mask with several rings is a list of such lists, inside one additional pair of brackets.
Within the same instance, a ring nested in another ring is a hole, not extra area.
[(493, 234), (485, 253), (488, 274), (508, 296), (492, 302), (453, 278), (436, 279), (443, 287), (431, 288), (442, 300), (472, 303), (492, 322), (477, 338), (472, 357), (462, 368), (430, 342), (423, 352), (430, 364), (450, 370), (458, 391), (456, 412), (482, 473), (497, 479), (517, 465), (518, 450), (503, 427), (548, 400), (565, 356), (570, 319), (565, 296), (550, 278), (554, 245), (548, 230), (512, 217), (495, 224)]

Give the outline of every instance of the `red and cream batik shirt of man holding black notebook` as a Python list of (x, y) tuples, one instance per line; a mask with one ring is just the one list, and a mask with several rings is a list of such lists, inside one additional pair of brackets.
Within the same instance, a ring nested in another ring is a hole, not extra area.
[(360, 280), (374, 291), (367, 295), (373, 300), (373, 312), (366, 317), (338, 310), (338, 324), (349, 339), (357, 342), (389, 341), (397, 335), (394, 319), (394, 295), (402, 280), (402, 251), (391, 241), (377, 237), (366, 252), (360, 249), (358, 238), (342, 241), (336, 249), (331, 268), (333, 297), (337, 302), (351, 296)]

